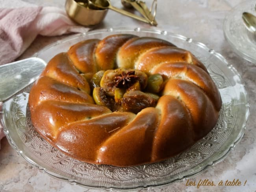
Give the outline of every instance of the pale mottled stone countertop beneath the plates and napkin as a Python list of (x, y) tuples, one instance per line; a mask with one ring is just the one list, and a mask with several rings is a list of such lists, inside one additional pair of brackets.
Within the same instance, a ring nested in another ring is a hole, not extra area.
[[(25, 0), (24, 0), (25, 1)], [(57, 5), (63, 7), (65, 0), (26, 0), (37, 5)], [(43, 2), (43, 3), (42, 3)], [(121, 7), (119, 0), (111, 0), (113, 5)], [(150, 1), (146, 1), (147, 3)], [(150, 188), (148, 191), (256, 191), (256, 64), (250, 63), (239, 57), (234, 52), (223, 35), (223, 21), (229, 11), (241, 3), (242, 0), (159, 0), (158, 29), (191, 37), (203, 42), (209, 48), (222, 54), (228, 63), (231, 63), (241, 75), (249, 94), (250, 118), (247, 129), (241, 141), (228, 153), (223, 161), (211, 166), (206, 171), (184, 181), (173, 183), (169, 186)], [(2, 5), (3, 6), (3, 5)], [(95, 27), (101, 28), (152, 28), (143, 22), (136, 21), (113, 11), (109, 11), (104, 22)], [(51, 44), (63, 37), (39, 36), (19, 59), (27, 58), (39, 51), (44, 46)], [(82, 186), (71, 185), (68, 182), (50, 177), (26, 162), (9, 145), (7, 139), (1, 140), (0, 150), (0, 191), (1, 192), (84, 192), (100, 191), (87, 189)], [(226, 180), (239, 179), (241, 186), (187, 186), (192, 181), (196, 184), (208, 179), (218, 183)], [(245, 183), (246, 181), (246, 183)]]

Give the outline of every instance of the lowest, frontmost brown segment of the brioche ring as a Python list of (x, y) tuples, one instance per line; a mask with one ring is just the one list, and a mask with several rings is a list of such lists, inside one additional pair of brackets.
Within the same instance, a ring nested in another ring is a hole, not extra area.
[(155, 108), (143, 109), (132, 122), (122, 127), (100, 146), (98, 162), (117, 166), (150, 162), (158, 118)]

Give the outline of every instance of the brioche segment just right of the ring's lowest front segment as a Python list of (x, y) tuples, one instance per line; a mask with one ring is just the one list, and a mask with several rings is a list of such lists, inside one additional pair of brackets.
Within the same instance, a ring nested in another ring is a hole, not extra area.
[(191, 117), (184, 104), (173, 96), (164, 95), (156, 108), (164, 118), (161, 118), (155, 133), (151, 161), (166, 159), (195, 142)]

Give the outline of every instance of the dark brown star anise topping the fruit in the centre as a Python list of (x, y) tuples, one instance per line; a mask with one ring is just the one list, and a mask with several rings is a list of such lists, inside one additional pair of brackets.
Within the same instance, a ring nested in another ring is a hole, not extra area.
[(115, 87), (122, 88), (122, 87), (129, 87), (132, 85), (139, 77), (135, 76), (135, 71), (129, 71), (129, 72), (124, 72), (119, 76), (115, 77)]

